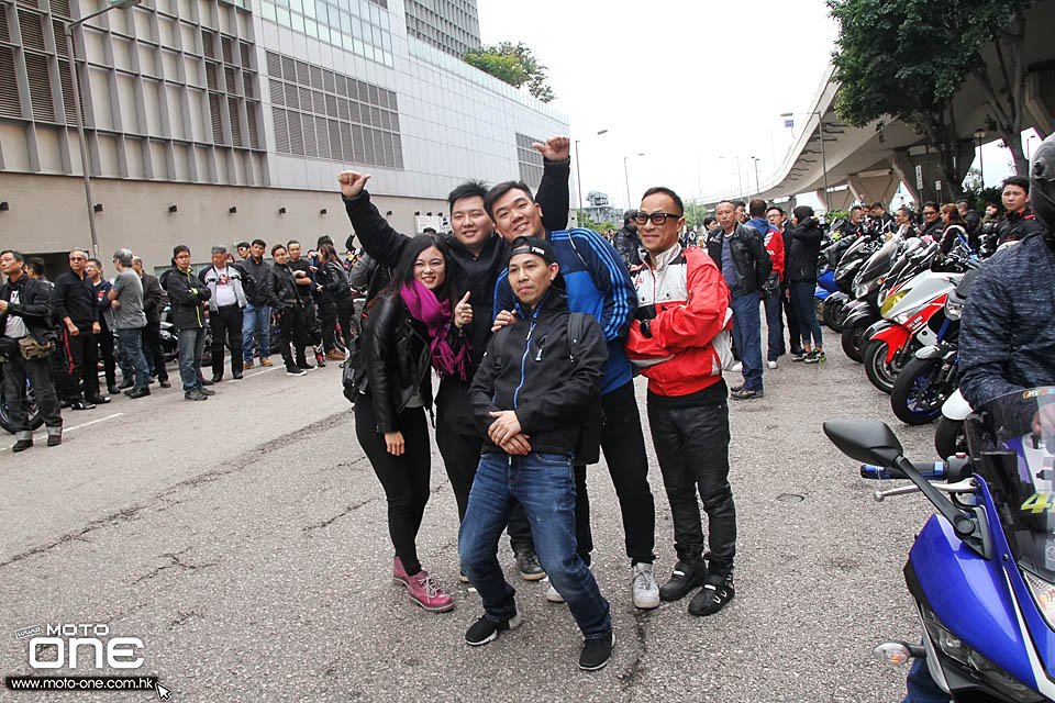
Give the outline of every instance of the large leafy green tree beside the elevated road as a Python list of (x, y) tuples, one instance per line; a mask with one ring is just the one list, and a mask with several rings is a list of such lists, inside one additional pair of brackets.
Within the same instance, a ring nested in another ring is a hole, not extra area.
[[(955, 167), (959, 135), (953, 98), (971, 74), (984, 85), (988, 82), (990, 108), (998, 115), (995, 122), (1001, 122), (1004, 140), (1021, 153), (1019, 93), (1024, 88), (1024, 66), (1021, 60), (1015, 64), (1018, 68), (1012, 66), (1014, 62), (1006, 60), (1008, 52), (1000, 47), (1018, 41), (1018, 48), (1011, 53), (1018, 52), (1014, 55), (1021, 58), (1021, 32), (1017, 27), (1021, 27), (1022, 13), (1033, 0), (828, 2), (840, 24), (833, 63), (834, 78), (841, 83), (835, 109), (842, 119), (858, 127), (889, 118), (913, 126), (937, 149), (944, 180), (959, 197), (960, 179)], [(1001, 58), (990, 69), (981, 52), (995, 41)], [(1012, 94), (1011, 108), (993, 88), (989, 70), (1001, 72), (1011, 93), (1017, 94)]]

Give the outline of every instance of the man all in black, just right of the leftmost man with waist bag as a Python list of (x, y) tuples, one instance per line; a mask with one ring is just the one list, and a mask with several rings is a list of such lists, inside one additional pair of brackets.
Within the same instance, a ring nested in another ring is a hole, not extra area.
[(58, 320), (66, 352), (66, 400), (70, 410), (91, 410), (109, 402), (99, 394), (99, 308), (91, 280), (85, 275), (88, 255), (84, 249), (69, 253), (69, 270), (55, 280), (52, 306)]

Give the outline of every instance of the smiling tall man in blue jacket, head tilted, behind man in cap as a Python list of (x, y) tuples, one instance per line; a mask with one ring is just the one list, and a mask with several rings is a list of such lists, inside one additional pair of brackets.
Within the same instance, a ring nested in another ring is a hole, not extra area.
[[(495, 186), (484, 199), (484, 207), (491, 215), (495, 228), (507, 242), (519, 236), (546, 239), (560, 265), (568, 306), (573, 312), (593, 315), (601, 323), (608, 343), (608, 362), (601, 383), (600, 446), (622, 513), (633, 603), (638, 609), (658, 607), (659, 587), (653, 567), (655, 501), (648, 487), (648, 459), (634, 395), (633, 369), (623, 349), (637, 308), (630, 271), (614, 247), (591, 230), (547, 231), (542, 208), (522, 182), (507, 181)], [(637, 223), (640, 227), (640, 219)], [(503, 272), (495, 287), (496, 324), (501, 326), (514, 321), (512, 311), (515, 305), (509, 278)], [(597, 434), (596, 428), (593, 434)], [(591, 439), (596, 449), (598, 437)], [(589, 563), (593, 539), (586, 488), (585, 457), (588, 453), (580, 451), (579, 455), (575, 466), (576, 540), (579, 556)], [(562, 599), (556, 590), (552, 590), (547, 598), (558, 602)]]

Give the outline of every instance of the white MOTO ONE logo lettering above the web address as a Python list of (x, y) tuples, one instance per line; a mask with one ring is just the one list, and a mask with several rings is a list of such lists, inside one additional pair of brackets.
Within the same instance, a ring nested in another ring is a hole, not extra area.
[[(55, 658), (42, 659), (42, 655), (49, 657), (51, 648), (56, 651)], [(143, 657), (136, 652), (143, 648), (143, 640), (138, 637), (110, 637), (109, 625), (47, 625), (46, 636), (30, 639), (30, 666), (34, 669), (76, 669), (81, 661), (96, 669), (102, 669), (103, 662), (111, 669), (138, 669), (143, 666)]]

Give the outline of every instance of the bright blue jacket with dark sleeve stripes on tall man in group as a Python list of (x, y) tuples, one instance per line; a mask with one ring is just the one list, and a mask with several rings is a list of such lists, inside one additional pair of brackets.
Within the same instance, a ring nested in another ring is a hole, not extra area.
[[(571, 312), (585, 312), (600, 324), (608, 343), (608, 362), (601, 393), (633, 380), (633, 369), (623, 346), (637, 310), (637, 292), (630, 271), (615, 248), (592, 230), (546, 232), (546, 239), (560, 265)], [(514, 310), (517, 299), (506, 271), (495, 286), (495, 315)]]

